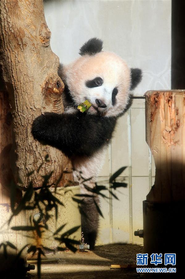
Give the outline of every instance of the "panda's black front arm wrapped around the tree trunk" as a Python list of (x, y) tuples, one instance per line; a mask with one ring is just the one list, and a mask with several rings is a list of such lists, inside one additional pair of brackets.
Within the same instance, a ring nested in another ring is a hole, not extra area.
[(67, 155), (90, 156), (108, 143), (116, 118), (85, 113), (45, 113), (32, 124), (35, 139), (60, 149)]

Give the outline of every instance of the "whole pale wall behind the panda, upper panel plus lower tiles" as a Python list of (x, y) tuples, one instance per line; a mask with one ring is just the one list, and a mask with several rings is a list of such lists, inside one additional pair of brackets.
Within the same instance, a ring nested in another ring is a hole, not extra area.
[[(171, 0), (44, 1), (45, 17), (52, 32), (51, 47), (62, 63), (78, 57), (89, 38), (98, 37), (104, 49), (114, 51), (130, 67), (143, 70), (134, 95), (147, 90), (170, 89)], [(120, 201), (102, 201), (98, 243), (142, 243), (133, 232), (142, 229), (142, 200), (152, 186), (155, 167), (145, 143), (145, 104), (133, 100), (119, 119), (100, 181), (121, 166), (129, 187), (120, 189)]]

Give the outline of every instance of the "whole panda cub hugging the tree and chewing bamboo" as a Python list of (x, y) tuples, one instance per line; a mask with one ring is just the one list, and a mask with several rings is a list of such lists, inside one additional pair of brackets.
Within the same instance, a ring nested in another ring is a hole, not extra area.
[[(141, 70), (130, 69), (113, 52), (102, 51), (103, 42), (92, 38), (81, 48), (81, 55), (69, 65), (60, 65), (59, 76), (65, 84), (62, 114), (44, 113), (32, 125), (35, 139), (60, 149), (72, 161), (74, 180), (81, 183), (84, 196), (82, 232), (85, 243), (94, 248), (99, 213), (99, 198), (88, 190), (103, 166), (106, 148), (116, 120), (129, 103), (130, 91), (141, 81)], [(92, 106), (84, 113), (77, 107), (88, 100)], [(79, 175), (81, 174), (81, 175)], [(93, 195), (94, 197), (89, 197)], [(95, 202), (94, 202), (95, 200)]]

